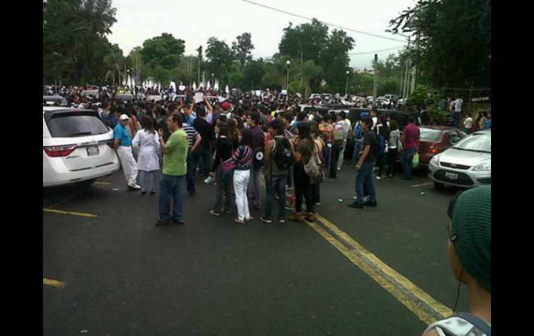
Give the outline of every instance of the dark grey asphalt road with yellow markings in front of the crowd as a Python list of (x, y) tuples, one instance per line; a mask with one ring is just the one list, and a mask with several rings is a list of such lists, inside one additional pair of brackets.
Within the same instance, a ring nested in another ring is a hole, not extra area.
[(454, 306), (446, 210), (456, 190), (436, 191), (424, 172), (377, 181), (379, 206), (350, 209), (345, 166), (322, 185), (311, 224), (215, 218), (214, 186), (197, 182), (181, 227), (155, 227), (157, 195), (127, 191), (122, 173), (44, 191), (43, 209), (64, 212), (43, 211), (43, 334), (420, 335), (425, 317)]

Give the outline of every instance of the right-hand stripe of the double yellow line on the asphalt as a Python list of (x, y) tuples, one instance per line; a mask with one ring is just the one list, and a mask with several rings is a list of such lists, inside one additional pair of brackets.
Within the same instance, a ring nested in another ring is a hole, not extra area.
[(397, 283), (401, 284), (404, 288), (412, 292), (415, 297), (417, 297), (417, 299), (420, 299), (424, 303), (427, 303), (427, 305), (431, 307), (434, 311), (438, 312), (443, 317), (448, 317), (453, 314), (451, 309), (449, 309), (447, 306), (442, 305), (442, 303), (439, 303), (438, 301), (436, 301), (436, 299), (433, 299), (433, 297), (424, 292), (422, 289), (418, 288), (413, 282), (408, 280), (408, 278), (395, 271), (395, 269), (389, 267), (386, 263), (384, 263), (384, 261), (380, 260), (377, 256), (365, 249), (365, 247), (361, 246), (359, 242), (356, 242), (356, 240), (352, 239), (352, 237), (350, 237), (347, 233), (341, 231), (341, 229), (336, 227), (335, 224), (333, 224), (326, 218), (323, 218), (321, 215), (318, 215), (317, 213), (316, 218), (320, 222), (322, 222), (322, 224), (328, 227), (332, 232), (336, 233), (337, 236), (345, 240), (348, 245), (354, 247), (356, 251), (365, 256), (365, 258), (367, 258), (370, 263), (375, 265), (378, 269), (381, 269), (385, 274), (397, 281)]

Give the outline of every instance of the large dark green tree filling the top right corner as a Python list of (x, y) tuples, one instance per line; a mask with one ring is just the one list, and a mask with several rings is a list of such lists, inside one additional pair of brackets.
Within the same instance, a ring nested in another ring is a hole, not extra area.
[(420, 0), (390, 26), (417, 37), (410, 55), (433, 87), (491, 86), (491, 1)]

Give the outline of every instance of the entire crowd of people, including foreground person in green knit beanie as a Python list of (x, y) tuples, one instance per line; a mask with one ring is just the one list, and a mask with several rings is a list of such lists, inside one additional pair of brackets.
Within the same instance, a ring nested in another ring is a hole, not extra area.
[[(408, 117), (401, 134), (397, 121), (378, 116), (374, 107), (370, 113), (356, 115), (352, 123), (343, 111), (334, 116), (335, 120), (313, 108), (302, 112), (298, 99), (277, 92), (260, 96), (204, 92), (201, 100), (192, 92), (184, 92), (184, 97), (175, 101), (124, 102), (114, 97), (123, 91), (128, 88), (101, 90), (98, 103), (80, 98), (77, 89), (64, 94), (69, 104), (98, 109), (103, 122), (113, 128), (114, 148), (128, 188), (141, 195), (159, 193), (157, 226), (184, 224), (184, 187), (190, 197), (195, 196), (199, 176), (205, 183), (215, 184), (210, 215), (231, 214), (234, 200), (236, 224), (255, 220), (250, 205), (263, 210), (262, 222), (271, 223), (276, 218), (284, 223), (287, 209), (293, 209), (288, 220), (312, 221), (316, 206), (321, 204), (320, 186), (327, 178), (336, 180), (349, 142), (354, 143), (354, 149), (347, 157), (357, 171), (356, 196), (349, 206), (374, 207), (378, 204), (374, 179), (395, 176), (395, 158), (400, 150), (401, 179), (410, 179), (420, 145), (413, 116)], [(142, 94), (147, 93), (159, 93), (159, 89)], [(451, 118), (456, 120), (456, 115)], [(490, 128), (491, 114), (481, 112), (474, 121), (467, 115), (463, 122), (470, 132)], [(160, 169), (162, 176), (156, 188), (155, 173)], [(454, 275), (469, 288), (471, 314), (438, 321), (424, 336), (490, 335), (490, 203), (490, 186), (466, 191), (451, 201), (449, 258)]]

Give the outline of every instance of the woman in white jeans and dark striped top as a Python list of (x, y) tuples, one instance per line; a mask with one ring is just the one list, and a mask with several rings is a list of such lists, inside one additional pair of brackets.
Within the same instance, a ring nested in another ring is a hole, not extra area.
[(234, 160), (234, 193), (236, 194), (237, 218), (234, 222), (245, 224), (254, 218), (248, 209), (247, 187), (252, 166), (252, 132), (248, 128), (241, 131), (241, 142), (232, 159)]

